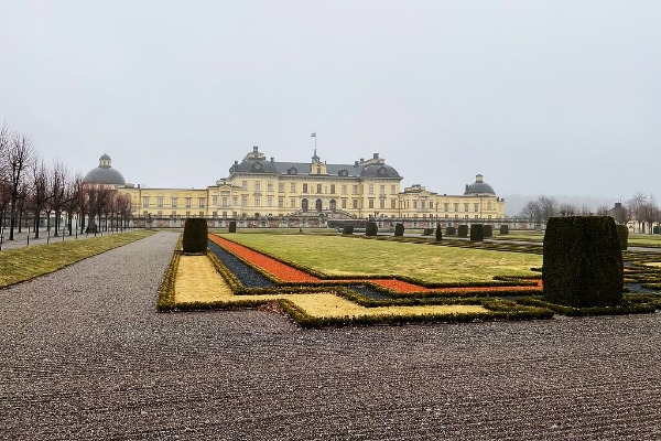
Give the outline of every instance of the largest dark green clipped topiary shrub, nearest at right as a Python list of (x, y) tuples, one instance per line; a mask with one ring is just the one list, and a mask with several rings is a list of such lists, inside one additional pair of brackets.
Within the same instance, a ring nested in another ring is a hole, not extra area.
[(573, 308), (620, 303), (624, 266), (613, 217), (551, 217), (543, 261), (548, 301)]

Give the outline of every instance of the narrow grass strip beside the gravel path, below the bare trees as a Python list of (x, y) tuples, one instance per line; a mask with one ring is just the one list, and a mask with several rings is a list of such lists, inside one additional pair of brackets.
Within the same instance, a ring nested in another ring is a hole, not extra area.
[(136, 230), (0, 251), (0, 288), (47, 275), (152, 234)]

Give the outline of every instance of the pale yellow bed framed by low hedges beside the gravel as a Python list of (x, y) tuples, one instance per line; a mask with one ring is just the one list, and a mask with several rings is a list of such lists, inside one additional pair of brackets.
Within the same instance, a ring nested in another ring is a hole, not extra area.
[(174, 302), (237, 302), (286, 299), (315, 318), (397, 314), (463, 314), (488, 312), (480, 305), (429, 305), (365, 308), (330, 292), (310, 294), (235, 295), (206, 256), (182, 256), (176, 271)]

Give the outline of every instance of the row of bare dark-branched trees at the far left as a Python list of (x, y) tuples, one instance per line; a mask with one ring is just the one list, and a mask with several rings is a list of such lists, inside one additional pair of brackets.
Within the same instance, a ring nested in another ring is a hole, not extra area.
[(59, 232), (71, 236), (76, 228), (86, 230), (86, 219), (87, 230), (99, 225), (106, 230), (123, 229), (130, 216), (128, 194), (86, 184), (79, 172), (59, 160), (47, 164), (28, 135), (0, 125), (0, 228), (9, 227), (9, 240), (14, 239), (14, 232), (21, 233), (23, 223), (39, 238), (42, 219), (54, 236)]

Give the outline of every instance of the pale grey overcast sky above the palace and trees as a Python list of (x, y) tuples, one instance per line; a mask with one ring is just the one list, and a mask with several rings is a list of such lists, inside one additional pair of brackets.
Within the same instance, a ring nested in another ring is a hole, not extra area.
[(205, 187), (379, 152), (403, 184), (661, 202), (661, 1), (0, 0), (0, 122)]

